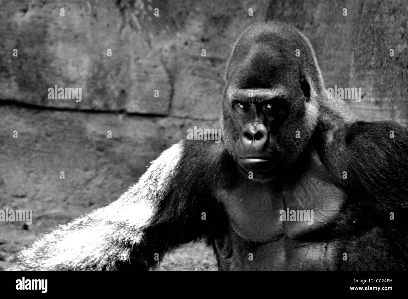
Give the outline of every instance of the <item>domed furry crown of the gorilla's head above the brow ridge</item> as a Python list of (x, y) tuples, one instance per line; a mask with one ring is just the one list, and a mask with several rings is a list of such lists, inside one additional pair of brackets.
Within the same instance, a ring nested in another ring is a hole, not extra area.
[[(296, 56), (297, 49), (300, 56)], [(238, 38), (226, 69), (226, 81), (244, 89), (271, 88), (283, 81), (290, 89), (297, 86), (301, 76), (309, 75), (317, 87), (321, 82), (310, 74), (319, 73), (314, 58), (308, 40), (294, 27), (277, 22), (256, 23)]]

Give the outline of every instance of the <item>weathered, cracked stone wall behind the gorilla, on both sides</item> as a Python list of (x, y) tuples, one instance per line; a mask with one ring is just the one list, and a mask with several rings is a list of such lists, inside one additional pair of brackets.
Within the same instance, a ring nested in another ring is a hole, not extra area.
[[(0, 209), (34, 211), (0, 223), (0, 266), (115, 200), (187, 128), (219, 128), (224, 67), (253, 22), (295, 25), (326, 87), (362, 88), (359, 117), (407, 124), (407, 15), (397, 0), (0, 1)], [(55, 85), (82, 101), (49, 99)]]

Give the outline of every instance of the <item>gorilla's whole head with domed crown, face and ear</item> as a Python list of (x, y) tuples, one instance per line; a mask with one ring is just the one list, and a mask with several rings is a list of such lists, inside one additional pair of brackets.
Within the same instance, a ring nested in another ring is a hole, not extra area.
[(246, 175), (270, 179), (304, 152), (317, 125), (326, 93), (315, 53), (295, 28), (257, 23), (235, 43), (225, 80), (226, 148)]

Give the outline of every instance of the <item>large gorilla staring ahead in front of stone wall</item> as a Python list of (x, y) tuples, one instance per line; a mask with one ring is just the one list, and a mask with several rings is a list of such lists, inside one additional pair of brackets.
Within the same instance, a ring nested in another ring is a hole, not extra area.
[(329, 98), (310, 42), (286, 24), (244, 30), (225, 81), (222, 142), (173, 145), (11, 269), (149, 270), (197, 239), (220, 270), (408, 269), (408, 130)]

